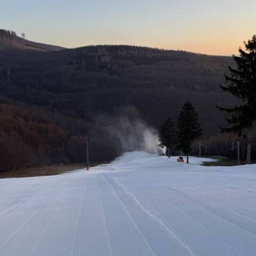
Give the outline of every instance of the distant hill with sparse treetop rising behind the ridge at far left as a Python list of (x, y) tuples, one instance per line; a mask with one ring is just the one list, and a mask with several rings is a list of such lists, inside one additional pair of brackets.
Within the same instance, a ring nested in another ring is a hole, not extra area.
[(13, 31), (0, 29), (0, 49), (5, 47), (15, 47), (17, 49), (35, 51), (59, 51), (64, 49), (60, 46), (28, 41), (22, 37), (17, 36)]

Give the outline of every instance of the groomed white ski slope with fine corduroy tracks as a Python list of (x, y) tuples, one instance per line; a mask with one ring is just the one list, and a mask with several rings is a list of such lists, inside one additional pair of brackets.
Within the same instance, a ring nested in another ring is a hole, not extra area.
[(256, 166), (142, 152), (0, 180), (0, 255), (256, 255)]

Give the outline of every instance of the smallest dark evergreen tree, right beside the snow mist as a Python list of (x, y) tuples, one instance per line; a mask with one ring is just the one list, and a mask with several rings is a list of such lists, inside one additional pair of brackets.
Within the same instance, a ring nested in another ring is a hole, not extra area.
[(170, 158), (171, 150), (174, 149), (175, 145), (175, 128), (171, 118), (167, 119), (160, 132), (159, 132), (159, 141), (161, 147), (166, 147), (166, 153)]

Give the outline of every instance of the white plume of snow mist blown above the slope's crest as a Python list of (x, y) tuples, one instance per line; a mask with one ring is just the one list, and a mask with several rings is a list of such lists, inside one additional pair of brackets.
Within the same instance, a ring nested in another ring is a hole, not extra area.
[(128, 151), (146, 151), (159, 154), (157, 131), (149, 126), (133, 107), (122, 108), (113, 115), (100, 115), (96, 118), (104, 139), (115, 145), (118, 154)]

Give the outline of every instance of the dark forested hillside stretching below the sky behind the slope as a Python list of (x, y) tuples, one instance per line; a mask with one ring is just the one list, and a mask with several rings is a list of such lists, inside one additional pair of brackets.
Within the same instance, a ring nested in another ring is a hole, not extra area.
[(113, 159), (118, 141), (95, 119), (131, 106), (131, 117), (135, 109), (158, 129), (189, 100), (203, 133), (218, 134), (224, 118), (215, 105), (232, 101), (219, 89), (229, 57), (125, 45), (59, 51), (13, 45), (0, 48), (0, 56), (2, 169), (84, 161), (86, 135), (91, 159)]

